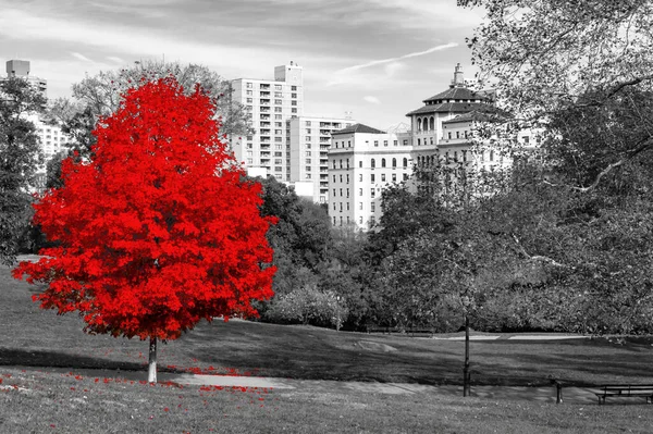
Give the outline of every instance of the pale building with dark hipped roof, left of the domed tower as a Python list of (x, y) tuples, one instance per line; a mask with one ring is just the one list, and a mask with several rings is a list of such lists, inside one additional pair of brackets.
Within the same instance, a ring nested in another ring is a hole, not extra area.
[(412, 172), (409, 134), (355, 124), (332, 134), (329, 215), (334, 226), (369, 231), (381, 218), (381, 191)]

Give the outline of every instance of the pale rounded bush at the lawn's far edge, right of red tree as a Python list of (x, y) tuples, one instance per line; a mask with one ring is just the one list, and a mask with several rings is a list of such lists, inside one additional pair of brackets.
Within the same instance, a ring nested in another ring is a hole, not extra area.
[(273, 323), (318, 326), (336, 326), (338, 318), (342, 324), (347, 317), (344, 299), (338, 301), (334, 292), (322, 293), (315, 286), (275, 296), (264, 313), (264, 319)]

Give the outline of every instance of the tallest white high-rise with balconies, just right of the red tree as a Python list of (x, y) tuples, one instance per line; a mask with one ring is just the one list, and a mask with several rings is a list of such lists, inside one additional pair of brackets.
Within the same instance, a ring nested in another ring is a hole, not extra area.
[(254, 133), (232, 137), (231, 146), (248, 174), (291, 181), (291, 142), (286, 121), (304, 114), (303, 67), (274, 67), (274, 79), (237, 78), (233, 98), (249, 111)]

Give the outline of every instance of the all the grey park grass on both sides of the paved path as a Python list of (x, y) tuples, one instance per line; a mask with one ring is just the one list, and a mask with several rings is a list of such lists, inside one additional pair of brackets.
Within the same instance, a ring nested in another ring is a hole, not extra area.
[[(201, 389), (79, 376), (134, 370), (147, 343), (89, 336), (75, 314), (32, 302), (35, 286), (0, 269), (0, 432), (650, 432), (649, 406), (549, 405), (356, 390)], [(201, 323), (161, 346), (160, 370), (293, 379), (459, 384), (463, 342), (336, 333), (246, 321)], [(471, 343), (472, 383), (545, 385), (653, 382), (651, 340)], [(25, 367), (25, 368), (15, 368)], [(70, 369), (70, 374), (48, 371)], [(120, 377), (120, 375), (119, 375)], [(609, 402), (609, 401), (608, 401)]]

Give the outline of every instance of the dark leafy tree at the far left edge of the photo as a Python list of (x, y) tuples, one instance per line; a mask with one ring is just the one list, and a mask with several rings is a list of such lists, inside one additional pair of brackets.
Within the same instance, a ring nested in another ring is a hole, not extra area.
[(0, 262), (15, 260), (19, 237), (30, 218), (34, 174), (42, 154), (29, 114), (42, 111), (44, 97), (27, 82), (0, 82)]

